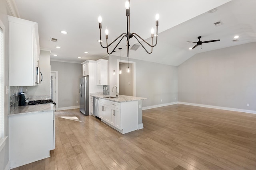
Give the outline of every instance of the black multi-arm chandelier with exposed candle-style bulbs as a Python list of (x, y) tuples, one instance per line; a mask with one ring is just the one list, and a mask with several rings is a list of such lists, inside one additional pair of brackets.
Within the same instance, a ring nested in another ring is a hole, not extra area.
[[(127, 43), (127, 57), (129, 57), (129, 46), (130, 46), (130, 38), (135, 37), (136, 40), (140, 43), (140, 45), (144, 48), (144, 50), (148, 53), (151, 54), (153, 51), (153, 47), (156, 46), (157, 44), (157, 37), (158, 37), (158, 20), (159, 20), (159, 14), (156, 14), (156, 43), (153, 45), (153, 38), (154, 38), (154, 29), (151, 29), (151, 44), (146, 42), (144, 39), (142, 39), (142, 37), (140, 37), (138, 34), (136, 33), (130, 33), (130, 0), (127, 0), (125, 3), (125, 7), (126, 7), (126, 33), (122, 33), (121, 35), (119, 35), (119, 37), (117, 37), (114, 41), (112, 41), (110, 44), (108, 44), (108, 29), (105, 30), (106, 33), (106, 46), (104, 47), (102, 45), (102, 39), (101, 39), (101, 22), (102, 22), (102, 18), (101, 16), (98, 17), (98, 21), (99, 21), (99, 28), (100, 28), (100, 45), (102, 48), (106, 48), (107, 49), (107, 53), (110, 55), (112, 54), (116, 47), (118, 46), (118, 44), (122, 41), (122, 39), (124, 37), (126, 37), (126, 43)], [(122, 38), (121, 38), (122, 37)], [(119, 40), (120, 39), (120, 40)], [(114, 49), (111, 52), (108, 52), (108, 47), (110, 47), (110, 45), (112, 45), (114, 42), (116, 42), (117, 40), (118, 43), (116, 44), (116, 46), (114, 47)], [(144, 41), (149, 47), (151, 47), (151, 51), (147, 51), (146, 48), (144, 47), (144, 45), (142, 45), (142, 43), (140, 42), (140, 40)], [(129, 58), (128, 58), (129, 59)], [(129, 67), (129, 66), (128, 66)]]

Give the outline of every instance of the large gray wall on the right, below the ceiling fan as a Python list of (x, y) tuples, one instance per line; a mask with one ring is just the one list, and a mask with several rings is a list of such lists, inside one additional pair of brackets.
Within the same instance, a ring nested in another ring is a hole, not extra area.
[(182, 63), (178, 96), (179, 102), (256, 110), (256, 43), (200, 53)]

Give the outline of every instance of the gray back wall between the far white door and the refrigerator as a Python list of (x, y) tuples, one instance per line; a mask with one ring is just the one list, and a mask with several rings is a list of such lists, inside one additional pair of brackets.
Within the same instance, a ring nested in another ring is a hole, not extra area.
[(50, 64), (52, 71), (58, 71), (58, 107), (79, 106), (79, 78), (82, 77), (82, 64), (57, 61), (50, 61)]

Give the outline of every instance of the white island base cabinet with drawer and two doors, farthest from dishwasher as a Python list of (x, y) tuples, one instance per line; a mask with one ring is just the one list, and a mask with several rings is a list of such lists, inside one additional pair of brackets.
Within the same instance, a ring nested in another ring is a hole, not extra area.
[(110, 102), (110, 124), (118, 129), (122, 129), (120, 103)]

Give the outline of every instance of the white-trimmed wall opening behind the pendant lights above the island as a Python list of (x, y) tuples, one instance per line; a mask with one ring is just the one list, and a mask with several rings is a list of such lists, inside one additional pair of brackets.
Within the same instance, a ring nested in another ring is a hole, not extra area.
[[(125, 60), (117, 60), (117, 68), (119, 70), (119, 66), (122, 69), (122, 74), (117, 76), (118, 89), (120, 95), (125, 96), (136, 96), (136, 66), (135, 62), (129, 61), (130, 72), (126, 72), (126, 68), (128, 66), (128, 61)], [(120, 64), (120, 65), (119, 65)]]

